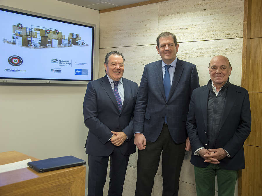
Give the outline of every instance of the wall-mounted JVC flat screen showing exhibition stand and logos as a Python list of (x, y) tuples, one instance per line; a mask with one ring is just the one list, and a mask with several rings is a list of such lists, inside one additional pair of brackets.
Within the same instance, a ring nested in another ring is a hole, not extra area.
[(0, 82), (93, 79), (95, 25), (0, 8)]

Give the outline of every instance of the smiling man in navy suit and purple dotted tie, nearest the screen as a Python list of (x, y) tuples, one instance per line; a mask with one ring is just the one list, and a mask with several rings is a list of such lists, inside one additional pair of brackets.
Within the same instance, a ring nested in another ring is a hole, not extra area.
[(106, 75), (88, 82), (83, 103), (88, 127), (88, 196), (102, 196), (110, 157), (108, 196), (123, 192), (129, 155), (136, 151), (133, 137), (134, 107), (138, 85), (122, 78), (124, 56), (109, 52), (105, 57)]

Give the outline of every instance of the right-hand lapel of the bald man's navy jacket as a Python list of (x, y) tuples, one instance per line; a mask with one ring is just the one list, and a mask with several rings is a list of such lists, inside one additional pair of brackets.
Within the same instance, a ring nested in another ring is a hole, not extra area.
[(236, 92), (233, 86), (231, 85), (231, 83), (229, 83), (226, 92), (226, 100), (224, 104), (223, 114), (222, 114), (221, 121), (219, 123), (219, 129), (218, 129), (219, 131), (221, 127), (224, 125), (224, 122), (227, 119), (227, 116), (229, 115), (229, 112), (231, 111), (237, 97), (238, 97), (238, 92)]

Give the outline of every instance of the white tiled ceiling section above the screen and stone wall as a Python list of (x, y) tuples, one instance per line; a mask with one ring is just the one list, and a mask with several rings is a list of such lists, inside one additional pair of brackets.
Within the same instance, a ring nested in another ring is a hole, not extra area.
[(57, 0), (94, 10), (105, 10), (148, 0)]

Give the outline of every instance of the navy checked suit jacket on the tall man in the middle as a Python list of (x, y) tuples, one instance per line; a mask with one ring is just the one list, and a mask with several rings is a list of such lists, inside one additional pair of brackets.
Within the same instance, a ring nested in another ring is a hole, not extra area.
[(176, 143), (187, 139), (185, 128), (190, 97), (199, 87), (196, 65), (177, 59), (169, 97), (165, 97), (162, 60), (149, 63), (141, 78), (134, 113), (134, 133), (143, 133), (154, 142), (161, 133), (164, 118)]

